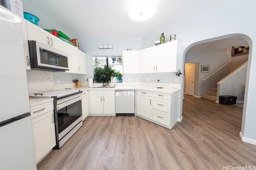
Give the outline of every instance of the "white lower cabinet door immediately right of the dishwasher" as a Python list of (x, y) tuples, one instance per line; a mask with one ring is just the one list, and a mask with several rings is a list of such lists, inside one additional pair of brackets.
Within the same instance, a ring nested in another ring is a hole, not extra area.
[(152, 119), (152, 97), (137, 95), (137, 113)]

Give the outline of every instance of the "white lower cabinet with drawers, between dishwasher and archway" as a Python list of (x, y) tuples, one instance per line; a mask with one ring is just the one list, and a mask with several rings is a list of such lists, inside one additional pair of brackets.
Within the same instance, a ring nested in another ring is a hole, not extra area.
[(171, 129), (177, 122), (176, 96), (177, 94), (137, 90), (136, 115)]

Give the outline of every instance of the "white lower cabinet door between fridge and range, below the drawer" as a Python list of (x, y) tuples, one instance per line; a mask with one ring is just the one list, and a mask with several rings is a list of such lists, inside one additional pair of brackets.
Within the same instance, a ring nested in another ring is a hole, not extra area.
[(36, 152), (36, 162), (41, 160), (56, 145), (54, 113), (49, 111), (31, 119)]

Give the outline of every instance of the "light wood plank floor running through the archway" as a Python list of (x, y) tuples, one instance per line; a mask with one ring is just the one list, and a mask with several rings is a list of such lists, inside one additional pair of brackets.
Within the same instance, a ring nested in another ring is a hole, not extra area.
[[(185, 96), (183, 120), (166, 129), (139, 117), (88, 117), (38, 170), (223, 170), (256, 167), (241, 141), (242, 108)], [(227, 169), (227, 168), (226, 168)]]

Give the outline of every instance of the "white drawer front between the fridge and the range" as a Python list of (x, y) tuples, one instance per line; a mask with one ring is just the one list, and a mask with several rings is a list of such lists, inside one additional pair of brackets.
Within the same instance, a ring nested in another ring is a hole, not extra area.
[(31, 107), (31, 119), (38, 117), (44, 113), (47, 113), (48, 111), (51, 111), (54, 109), (53, 102), (47, 102), (44, 104), (40, 104), (38, 106)]

